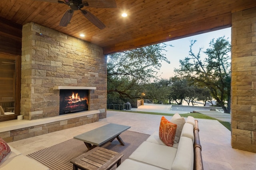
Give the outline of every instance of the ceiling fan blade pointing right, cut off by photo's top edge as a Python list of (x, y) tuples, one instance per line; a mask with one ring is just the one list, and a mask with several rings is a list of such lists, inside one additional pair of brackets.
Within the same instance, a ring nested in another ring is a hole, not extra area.
[(82, 3), (93, 8), (116, 8), (115, 0), (82, 0)]

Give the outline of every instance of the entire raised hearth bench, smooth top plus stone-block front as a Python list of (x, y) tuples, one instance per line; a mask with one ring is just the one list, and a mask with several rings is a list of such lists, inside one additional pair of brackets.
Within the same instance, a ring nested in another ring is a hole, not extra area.
[(13, 124), (12, 122), (10, 122), (5, 127), (0, 127), (0, 137), (6, 142), (19, 141), (38, 135), (44, 135), (55, 131), (93, 123), (99, 120), (99, 111), (89, 112), (91, 113), (72, 113), (69, 115), (62, 115), (58, 117), (58, 119), (50, 117), (50, 119), (38, 119), (38, 121), (22, 120), (22, 123), (24, 124), (16, 122), (14, 123), (14, 125), (9, 125)]

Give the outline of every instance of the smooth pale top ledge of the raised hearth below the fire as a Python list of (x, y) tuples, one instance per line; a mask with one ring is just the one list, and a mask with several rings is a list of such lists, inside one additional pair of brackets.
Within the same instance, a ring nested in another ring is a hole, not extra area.
[(59, 116), (54, 116), (54, 117), (47, 117), (43, 119), (36, 119), (36, 120), (10, 120), (10, 121), (4, 121), (0, 122), (0, 133), (1, 132), (6, 132), (6, 131), (12, 131), (15, 129), (21, 129), (25, 127), (31, 127), (31, 126), (36, 126), (36, 125), (42, 125), (45, 123), (52, 123), (55, 121), (62, 121), (66, 119), (72, 119), (76, 117), (82, 117), (82, 116), (87, 116), (87, 115), (93, 115), (100, 113), (99, 110), (90, 110), (90, 111), (82, 111), (79, 113), (69, 113), (65, 115), (59, 115)]

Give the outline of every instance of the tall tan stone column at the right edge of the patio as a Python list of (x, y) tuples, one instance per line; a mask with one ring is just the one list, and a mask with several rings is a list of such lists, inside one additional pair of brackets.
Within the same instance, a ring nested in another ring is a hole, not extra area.
[(232, 14), (232, 147), (256, 152), (256, 8)]

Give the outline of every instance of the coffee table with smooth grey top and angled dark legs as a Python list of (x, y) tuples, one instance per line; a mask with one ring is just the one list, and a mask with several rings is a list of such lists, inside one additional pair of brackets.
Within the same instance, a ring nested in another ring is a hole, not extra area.
[(114, 139), (117, 139), (121, 145), (125, 145), (119, 135), (129, 128), (130, 126), (109, 123), (102, 127), (77, 135), (74, 139), (83, 141), (88, 150), (97, 146), (102, 146), (108, 142), (112, 142)]

